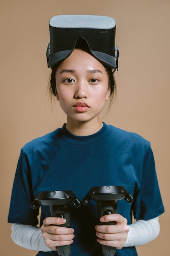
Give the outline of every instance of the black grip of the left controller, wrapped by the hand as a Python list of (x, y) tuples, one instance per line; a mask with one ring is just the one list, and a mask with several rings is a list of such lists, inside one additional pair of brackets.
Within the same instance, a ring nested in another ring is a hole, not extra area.
[[(57, 225), (60, 227), (70, 227), (70, 205), (50, 205), (52, 217), (59, 217), (66, 219), (66, 223)], [(69, 256), (71, 254), (71, 245), (57, 246), (57, 253), (59, 256)]]

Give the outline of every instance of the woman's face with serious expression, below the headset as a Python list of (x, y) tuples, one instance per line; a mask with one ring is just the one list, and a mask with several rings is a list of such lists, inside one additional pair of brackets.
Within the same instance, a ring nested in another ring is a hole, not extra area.
[(68, 122), (99, 120), (110, 89), (104, 66), (89, 53), (74, 49), (57, 68), (56, 97)]

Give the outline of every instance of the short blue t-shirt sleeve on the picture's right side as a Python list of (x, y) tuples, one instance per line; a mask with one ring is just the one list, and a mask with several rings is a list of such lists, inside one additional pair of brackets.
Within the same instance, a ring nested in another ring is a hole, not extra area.
[(133, 214), (135, 219), (152, 219), (164, 212), (155, 170), (154, 156), (149, 146), (143, 161), (140, 189), (134, 195)]

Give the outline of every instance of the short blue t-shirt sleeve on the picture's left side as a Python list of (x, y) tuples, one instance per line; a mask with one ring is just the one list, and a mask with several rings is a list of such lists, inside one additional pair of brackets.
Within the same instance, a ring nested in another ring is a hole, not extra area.
[(37, 225), (38, 210), (30, 207), (33, 200), (30, 166), (27, 156), (21, 150), (12, 189), (8, 222)]

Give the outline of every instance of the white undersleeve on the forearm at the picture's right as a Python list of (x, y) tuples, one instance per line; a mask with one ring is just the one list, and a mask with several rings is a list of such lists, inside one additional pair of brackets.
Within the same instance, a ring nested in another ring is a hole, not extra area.
[(148, 221), (139, 219), (128, 227), (129, 232), (124, 247), (146, 244), (158, 236), (160, 231), (159, 218), (156, 217)]

